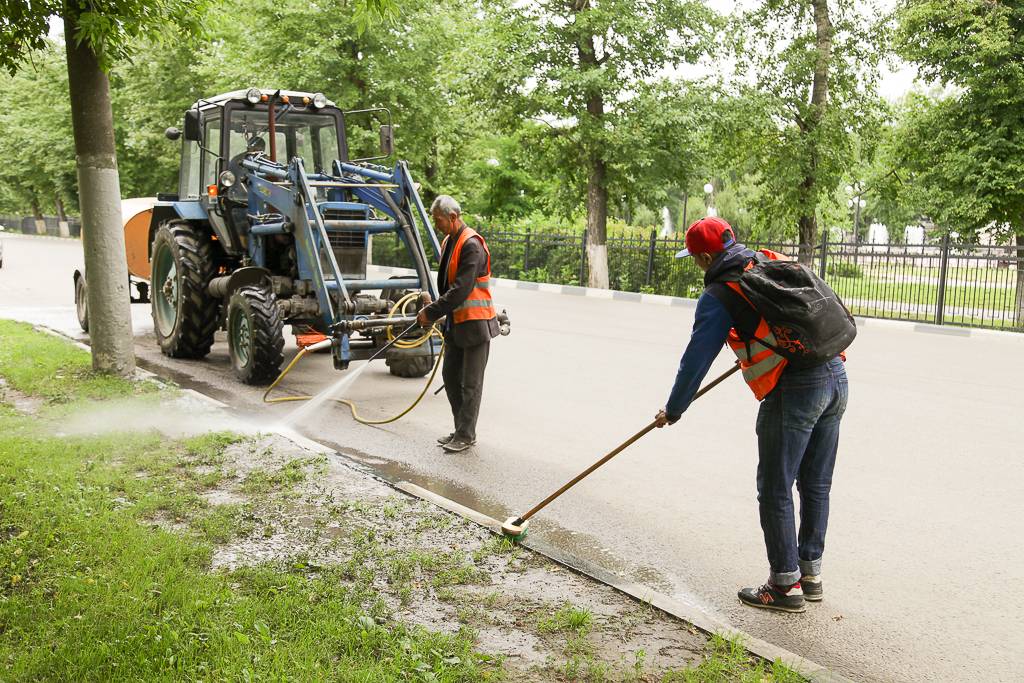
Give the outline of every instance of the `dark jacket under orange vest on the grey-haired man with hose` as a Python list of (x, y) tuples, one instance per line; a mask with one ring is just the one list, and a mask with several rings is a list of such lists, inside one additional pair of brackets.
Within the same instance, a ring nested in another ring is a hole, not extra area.
[[(469, 297), (469, 293), (476, 284), (476, 279), (487, 274), (487, 255), (483, 247), (477, 240), (468, 240), (462, 246), (462, 254), (459, 256), (459, 269), (455, 273), (455, 282), (449, 287), (447, 268), (452, 259), (452, 251), (459, 242), (459, 236), (466, 229), (463, 225), (458, 232), (449, 238), (441, 253), (441, 260), (437, 266), (437, 301), (427, 306), (427, 317), (436, 321), (442, 315), (444, 318), (444, 339), (456, 346), (466, 348), (476, 346), (483, 342), (490, 341), (498, 336), (498, 319), (489, 321), (466, 321), (455, 325), (452, 319), (452, 311), (458, 308)], [(481, 238), (482, 239), (482, 238)]]

